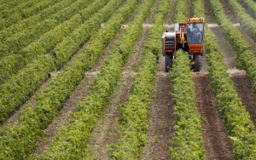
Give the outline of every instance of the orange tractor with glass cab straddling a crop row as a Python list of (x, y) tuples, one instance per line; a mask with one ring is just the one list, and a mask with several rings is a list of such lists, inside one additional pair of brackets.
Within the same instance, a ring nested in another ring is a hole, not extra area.
[(174, 31), (164, 32), (162, 37), (162, 54), (165, 56), (166, 71), (172, 68), (172, 60), (178, 49), (189, 53), (191, 70), (201, 71), (201, 56), (204, 54), (203, 18), (188, 19), (186, 23), (175, 23)]

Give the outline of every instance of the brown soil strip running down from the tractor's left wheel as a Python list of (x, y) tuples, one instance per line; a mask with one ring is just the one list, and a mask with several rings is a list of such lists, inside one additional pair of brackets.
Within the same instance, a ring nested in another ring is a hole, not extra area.
[(170, 159), (173, 120), (172, 81), (168, 74), (159, 72), (154, 77), (154, 93), (149, 111), (148, 144), (143, 147), (143, 160)]

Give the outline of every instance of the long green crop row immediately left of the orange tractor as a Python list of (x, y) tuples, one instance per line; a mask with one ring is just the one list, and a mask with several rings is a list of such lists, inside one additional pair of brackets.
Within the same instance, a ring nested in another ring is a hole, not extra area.
[(120, 106), (120, 138), (109, 147), (113, 159), (140, 159), (147, 143), (148, 109), (154, 89), (154, 74), (160, 54), (161, 34), (170, 1), (161, 0), (154, 14), (154, 26), (149, 31), (143, 51), (143, 63), (132, 84), (133, 91)]

